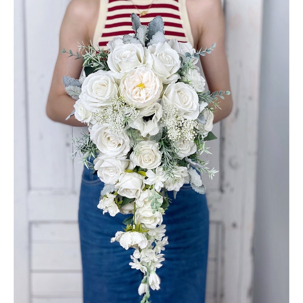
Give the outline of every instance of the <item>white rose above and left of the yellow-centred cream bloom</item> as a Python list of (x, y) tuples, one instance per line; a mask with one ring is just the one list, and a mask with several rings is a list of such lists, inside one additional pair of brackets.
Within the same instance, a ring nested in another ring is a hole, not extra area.
[(125, 74), (136, 67), (145, 66), (148, 59), (150, 60), (148, 49), (143, 48), (142, 44), (120, 44), (120, 41), (118, 40), (116, 47), (108, 56), (107, 63), (110, 70), (113, 72)]

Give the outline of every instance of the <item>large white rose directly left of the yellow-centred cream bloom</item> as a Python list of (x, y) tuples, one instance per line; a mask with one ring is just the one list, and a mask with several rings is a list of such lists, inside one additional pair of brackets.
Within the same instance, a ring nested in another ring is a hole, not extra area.
[(112, 103), (118, 95), (118, 85), (110, 71), (99, 70), (89, 74), (83, 81), (79, 99), (90, 111)]

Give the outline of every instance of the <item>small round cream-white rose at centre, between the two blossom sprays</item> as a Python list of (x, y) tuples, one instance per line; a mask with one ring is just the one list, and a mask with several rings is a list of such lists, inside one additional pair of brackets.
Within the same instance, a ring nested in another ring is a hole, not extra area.
[(161, 164), (162, 153), (156, 141), (140, 141), (129, 158), (141, 168), (153, 169)]

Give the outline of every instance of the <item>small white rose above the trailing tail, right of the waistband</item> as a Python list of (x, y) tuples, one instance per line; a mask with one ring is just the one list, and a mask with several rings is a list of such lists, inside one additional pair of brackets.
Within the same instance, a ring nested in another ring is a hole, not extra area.
[(138, 173), (123, 173), (116, 184), (118, 193), (128, 198), (138, 198), (144, 188), (144, 177)]

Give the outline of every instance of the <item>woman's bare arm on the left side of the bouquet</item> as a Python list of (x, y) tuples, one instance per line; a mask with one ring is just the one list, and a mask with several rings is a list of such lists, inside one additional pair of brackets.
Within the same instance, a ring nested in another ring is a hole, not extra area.
[(97, 11), (93, 3), (95, 2), (72, 0), (66, 9), (60, 29), (57, 62), (46, 104), (46, 114), (50, 119), (72, 126), (84, 126), (84, 124), (74, 117), (65, 120), (74, 110), (75, 100), (66, 93), (63, 76), (78, 79), (83, 62), (81, 59), (75, 60), (76, 57), (62, 54), (61, 51), (63, 48), (67, 51), (71, 49), (76, 54), (80, 43), (89, 44), (89, 40), (92, 39), (89, 26), (93, 24), (92, 19)]

